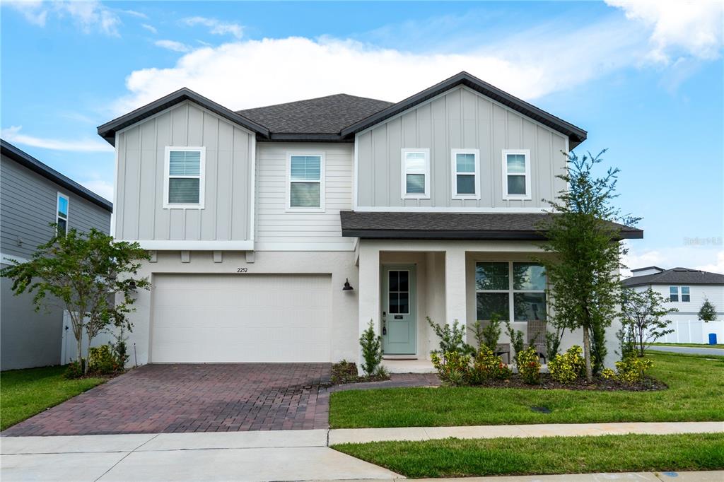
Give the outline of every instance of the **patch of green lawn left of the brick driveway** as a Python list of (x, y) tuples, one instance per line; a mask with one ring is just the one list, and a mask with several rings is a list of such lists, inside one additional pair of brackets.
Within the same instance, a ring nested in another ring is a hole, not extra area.
[(64, 371), (64, 366), (49, 366), (0, 372), (0, 430), (106, 381), (66, 380)]

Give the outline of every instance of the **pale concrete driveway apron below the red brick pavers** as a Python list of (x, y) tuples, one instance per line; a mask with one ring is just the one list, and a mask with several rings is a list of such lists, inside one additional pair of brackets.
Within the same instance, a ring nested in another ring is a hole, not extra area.
[(3, 481), (390, 480), (327, 430), (2, 437)]

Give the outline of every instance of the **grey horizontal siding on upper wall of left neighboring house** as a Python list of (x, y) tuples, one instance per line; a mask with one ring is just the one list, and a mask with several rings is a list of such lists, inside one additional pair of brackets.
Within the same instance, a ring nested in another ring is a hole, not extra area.
[(111, 213), (70, 193), (16, 161), (0, 161), (0, 252), (30, 258), (38, 245), (53, 237), (50, 223), (56, 222), (58, 193), (67, 195), (68, 227), (88, 232), (96, 228), (108, 233)]

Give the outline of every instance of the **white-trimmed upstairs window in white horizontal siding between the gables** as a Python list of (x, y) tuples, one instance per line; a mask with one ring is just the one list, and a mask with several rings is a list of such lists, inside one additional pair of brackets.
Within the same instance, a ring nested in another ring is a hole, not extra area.
[(323, 154), (290, 153), (287, 179), (287, 209), (324, 211)]

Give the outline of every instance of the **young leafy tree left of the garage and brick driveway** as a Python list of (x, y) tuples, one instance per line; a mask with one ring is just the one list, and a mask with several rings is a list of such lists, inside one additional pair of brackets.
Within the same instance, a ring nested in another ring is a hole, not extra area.
[(127, 314), (134, 309), (133, 292), (151, 285), (137, 276), (140, 261), (149, 255), (137, 242), (114, 242), (97, 229), (88, 233), (70, 229), (67, 234), (56, 229), (56, 233), (38, 246), (30, 261), (14, 262), (0, 276), (13, 279), (15, 295), (34, 292), (36, 311), (61, 306), (70, 313), (80, 363), (83, 332), (90, 348), (93, 338), (111, 325), (131, 329)]

